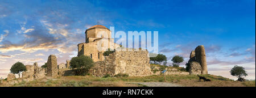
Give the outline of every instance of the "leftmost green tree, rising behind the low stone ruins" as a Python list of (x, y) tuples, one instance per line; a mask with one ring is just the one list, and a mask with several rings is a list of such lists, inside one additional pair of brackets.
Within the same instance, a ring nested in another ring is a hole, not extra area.
[(22, 71), (26, 71), (26, 70), (27, 70), (26, 66), (24, 66), (24, 64), (21, 62), (14, 63), (14, 65), (11, 66), (11, 69), (10, 69), (11, 73), (18, 74), (19, 78), (20, 78), (20, 73), (22, 73)]

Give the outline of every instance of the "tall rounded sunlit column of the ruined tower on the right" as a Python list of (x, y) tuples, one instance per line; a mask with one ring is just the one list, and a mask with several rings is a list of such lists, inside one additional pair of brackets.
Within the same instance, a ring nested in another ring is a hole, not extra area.
[(208, 74), (204, 45), (197, 46), (195, 53), (196, 61), (199, 62), (202, 67), (201, 74)]

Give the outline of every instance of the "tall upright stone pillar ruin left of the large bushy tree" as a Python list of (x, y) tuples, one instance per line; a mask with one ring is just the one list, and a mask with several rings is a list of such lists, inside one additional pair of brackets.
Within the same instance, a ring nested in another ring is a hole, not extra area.
[(56, 77), (57, 75), (57, 58), (55, 55), (50, 55), (47, 61), (47, 76)]

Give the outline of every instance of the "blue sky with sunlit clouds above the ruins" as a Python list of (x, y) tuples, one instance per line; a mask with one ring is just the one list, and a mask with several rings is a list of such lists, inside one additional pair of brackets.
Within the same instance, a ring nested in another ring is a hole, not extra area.
[(234, 65), (255, 79), (255, 1), (0, 1), (0, 77), (11, 65), (58, 63), (77, 56), (97, 22), (115, 31), (158, 31), (159, 52), (188, 61), (204, 45), (209, 74), (228, 78)]

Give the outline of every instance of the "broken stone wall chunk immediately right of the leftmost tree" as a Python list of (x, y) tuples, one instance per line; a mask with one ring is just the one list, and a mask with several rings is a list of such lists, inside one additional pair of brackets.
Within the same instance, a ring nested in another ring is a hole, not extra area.
[(33, 80), (34, 79), (34, 65), (26, 65), (26, 71), (23, 71), (22, 73), (22, 78), (26, 78), (26, 79), (30, 79)]

